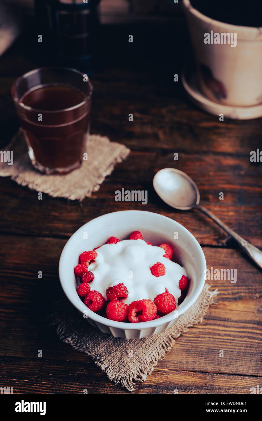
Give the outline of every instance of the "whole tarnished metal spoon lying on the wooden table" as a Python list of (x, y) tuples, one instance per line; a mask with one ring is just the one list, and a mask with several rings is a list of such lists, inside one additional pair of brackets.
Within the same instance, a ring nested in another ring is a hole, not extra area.
[(240, 235), (224, 224), (217, 216), (210, 212), (210, 210), (199, 205), (199, 190), (194, 181), (183, 173), (183, 171), (179, 171), (176, 168), (163, 168), (156, 173), (153, 180), (153, 186), (159, 197), (161, 197), (165, 203), (172, 206), (172, 208), (181, 210), (195, 208), (209, 216), (231, 235), (249, 257), (251, 257), (262, 269), (262, 251), (240, 237)]

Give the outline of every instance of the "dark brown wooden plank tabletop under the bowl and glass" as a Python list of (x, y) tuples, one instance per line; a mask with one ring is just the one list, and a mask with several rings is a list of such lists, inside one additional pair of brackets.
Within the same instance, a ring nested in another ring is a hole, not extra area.
[[(38, 200), (37, 192), (1, 179), (0, 386), (13, 386), (18, 393), (82, 393), (86, 388), (88, 393), (127, 393), (91, 359), (60, 342), (42, 316), (61, 294), (58, 260), (71, 234), (104, 213), (143, 209), (186, 226), (202, 245), (207, 267), (237, 269), (237, 282), (209, 281), (219, 290), (217, 304), (201, 325), (177, 339), (137, 392), (249, 394), (251, 387), (262, 386), (261, 272), (206, 216), (165, 205), (152, 179), (164, 167), (185, 171), (199, 186), (201, 203), (262, 248), (262, 164), (249, 160), (250, 151), (261, 147), (261, 119), (220, 122), (186, 99), (180, 81), (173, 82), (175, 73), (181, 80), (190, 54), (183, 21), (175, 28), (105, 26), (103, 34), (104, 68), (92, 77), (92, 133), (125, 144), (131, 154), (82, 203), (48, 195)], [(1, 145), (18, 127), (10, 85), (39, 63), (42, 59), (34, 57), (24, 38), (1, 58)], [(115, 202), (115, 190), (122, 187), (148, 190), (148, 204)]]

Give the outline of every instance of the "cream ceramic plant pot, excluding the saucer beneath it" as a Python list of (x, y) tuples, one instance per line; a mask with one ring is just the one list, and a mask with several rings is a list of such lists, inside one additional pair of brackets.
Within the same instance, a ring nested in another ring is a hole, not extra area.
[[(219, 3), (217, 3), (217, 7)], [(248, 2), (246, 7), (248, 7)], [(262, 27), (215, 21), (183, 0), (194, 48), (199, 85), (207, 98), (223, 105), (249, 107), (262, 103)], [(226, 12), (225, 12), (226, 13)], [(208, 41), (210, 34), (210, 43)], [(233, 34), (217, 37), (215, 34)], [(221, 43), (223, 39), (226, 43)], [(220, 43), (211, 43), (213, 40)], [(231, 46), (234, 45), (235, 46)]]

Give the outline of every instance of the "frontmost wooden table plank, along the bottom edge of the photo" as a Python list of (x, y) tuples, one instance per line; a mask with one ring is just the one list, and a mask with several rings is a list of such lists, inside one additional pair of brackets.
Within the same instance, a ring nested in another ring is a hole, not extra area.
[[(87, 358), (85, 364), (74, 361), (48, 362), (6, 359), (0, 363), (4, 369), (2, 387), (13, 387), (14, 393), (130, 393), (107, 380), (105, 373)], [(2, 370), (1, 370), (2, 371)], [(259, 383), (260, 382), (260, 383)], [(230, 376), (216, 373), (155, 368), (144, 383), (133, 393), (243, 393), (261, 384), (261, 377)]]

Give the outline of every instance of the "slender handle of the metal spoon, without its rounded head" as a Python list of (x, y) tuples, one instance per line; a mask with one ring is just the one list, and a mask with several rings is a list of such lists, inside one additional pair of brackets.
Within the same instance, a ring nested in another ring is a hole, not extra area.
[(207, 216), (209, 216), (213, 221), (215, 221), (221, 228), (223, 228), (228, 234), (233, 237), (238, 244), (243, 248), (243, 250), (248, 254), (249, 257), (254, 260), (254, 262), (262, 269), (262, 251), (258, 248), (254, 247), (254, 245), (250, 244), (244, 238), (240, 237), (233, 229), (229, 228), (224, 222), (222, 222), (214, 213), (210, 212), (210, 210), (204, 208), (204, 206), (196, 205), (196, 209), (201, 210)]

